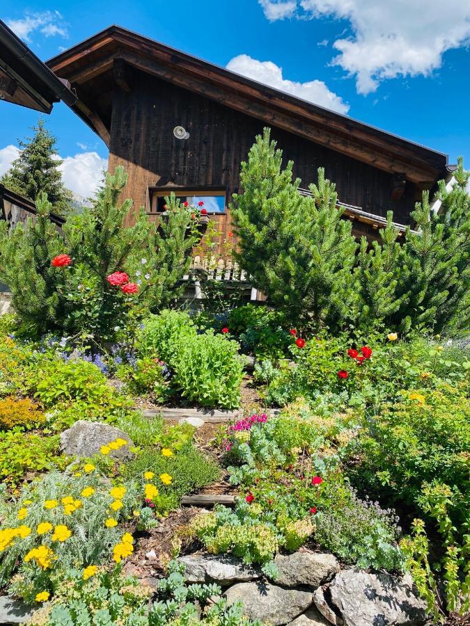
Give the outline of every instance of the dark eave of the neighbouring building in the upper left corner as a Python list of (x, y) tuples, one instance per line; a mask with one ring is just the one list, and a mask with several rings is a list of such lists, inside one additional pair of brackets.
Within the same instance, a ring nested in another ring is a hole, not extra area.
[(0, 19), (0, 99), (50, 113), (54, 102), (75, 95)]

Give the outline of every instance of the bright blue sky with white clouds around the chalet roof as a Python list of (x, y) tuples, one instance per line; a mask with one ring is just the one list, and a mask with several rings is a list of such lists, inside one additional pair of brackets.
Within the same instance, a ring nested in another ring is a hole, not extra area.
[[(42, 60), (120, 24), (470, 166), (470, 0), (3, 0), (0, 17)], [(37, 118), (0, 102), (0, 173)], [(106, 146), (63, 104), (47, 121), (89, 195)]]

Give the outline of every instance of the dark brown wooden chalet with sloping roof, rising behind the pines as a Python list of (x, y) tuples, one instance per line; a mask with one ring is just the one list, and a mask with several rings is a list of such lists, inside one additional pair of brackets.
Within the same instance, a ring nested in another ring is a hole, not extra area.
[(120, 26), (47, 65), (70, 83), (77, 100), (69, 106), (109, 147), (109, 170), (127, 170), (125, 194), (136, 207), (157, 217), (170, 191), (202, 200), (221, 242), (230, 239), (228, 204), (240, 188), (240, 163), (265, 126), (285, 161), (294, 161), (303, 188), (315, 182), (318, 167), (325, 168), (354, 232), (370, 239), (389, 209), (404, 230), (423, 189), (448, 177), (441, 152)]

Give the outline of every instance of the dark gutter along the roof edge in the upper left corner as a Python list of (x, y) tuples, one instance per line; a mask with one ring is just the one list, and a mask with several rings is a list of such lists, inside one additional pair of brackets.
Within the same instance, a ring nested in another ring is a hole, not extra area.
[(40, 58), (24, 45), (22, 40), (1, 19), (0, 45), (4, 46), (10, 54), (17, 58), (18, 61), (21, 61), (28, 70), (38, 77), (52, 91), (57, 100), (62, 100), (68, 106), (72, 106), (77, 102), (77, 96), (70, 90), (70, 83), (56, 77), (56, 74), (49, 70), (49, 67), (42, 63)]

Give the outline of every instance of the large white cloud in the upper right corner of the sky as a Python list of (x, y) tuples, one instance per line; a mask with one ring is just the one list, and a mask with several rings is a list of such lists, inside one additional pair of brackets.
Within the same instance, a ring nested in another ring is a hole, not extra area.
[(446, 50), (470, 42), (468, 0), (297, 0), (297, 8), (285, 15), (278, 2), (259, 2), (271, 21), (296, 15), (350, 22), (354, 36), (334, 42), (339, 54), (332, 62), (356, 77), (362, 94), (384, 79), (428, 76), (441, 67)]

